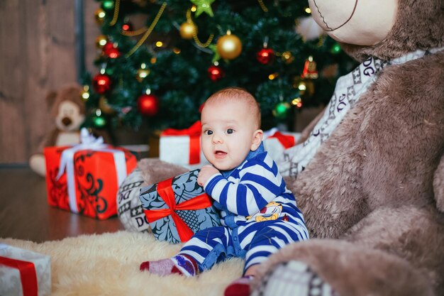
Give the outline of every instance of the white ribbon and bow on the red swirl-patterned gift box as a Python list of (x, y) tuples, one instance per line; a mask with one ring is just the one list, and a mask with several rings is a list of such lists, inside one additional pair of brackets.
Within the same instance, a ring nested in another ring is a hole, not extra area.
[(126, 160), (125, 153), (122, 150), (113, 149), (104, 143), (104, 138), (95, 138), (90, 134), (87, 128), (82, 128), (80, 131), (80, 143), (78, 145), (72, 146), (72, 148), (67, 148), (63, 150), (62, 156), (60, 158), (60, 168), (56, 180), (62, 177), (66, 170), (67, 175), (67, 187), (68, 187), (68, 197), (70, 199), (70, 209), (74, 213), (79, 212), (79, 207), (77, 206), (77, 198), (75, 192), (75, 179), (74, 179), (74, 154), (79, 150), (94, 150), (101, 152), (109, 152), (113, 154), (114, 164), (116, 166), (117, 174), (117, 185), (120, 186), (125, 180), (126, 172)]

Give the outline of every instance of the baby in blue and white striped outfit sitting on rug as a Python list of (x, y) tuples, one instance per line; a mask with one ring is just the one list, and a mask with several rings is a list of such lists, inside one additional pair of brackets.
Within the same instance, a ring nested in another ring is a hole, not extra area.
[(144, 262), (140, 270), (194, 276), (226, 258), (245, 258), (243, 278), (225, 295), (249, 295), (258, 265), (309, 233), (294, 195), (263, 148), (255, 98), (244, 89), (222, 89), (206, 100), (201, 123), (201, 147), (211, 165), (201, 168), (197, 182), (214, 199), (223, 226), (198, 231), (177, 256)]

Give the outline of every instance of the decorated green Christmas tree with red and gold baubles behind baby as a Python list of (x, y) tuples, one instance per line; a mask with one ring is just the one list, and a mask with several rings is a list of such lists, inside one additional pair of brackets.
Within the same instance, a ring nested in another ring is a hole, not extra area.
[(237, 86), (260, 103), (262, 128), (291, 129), (298, 110), (326, 104), (354, 66), (316, 31), (305, 1), (99, 4), (98, 70), (85, 75), (82, 93), (86, 126), (187, 128), (213, 92)]

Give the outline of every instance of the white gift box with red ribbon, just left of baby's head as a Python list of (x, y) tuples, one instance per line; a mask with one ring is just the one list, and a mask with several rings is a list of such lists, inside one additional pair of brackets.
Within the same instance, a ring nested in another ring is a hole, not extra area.
[(200, 138), (200, 121), (185, 129), (165, 129), (160, 133), (159, 159), (190, 170), (208, 164), (201, 152)]

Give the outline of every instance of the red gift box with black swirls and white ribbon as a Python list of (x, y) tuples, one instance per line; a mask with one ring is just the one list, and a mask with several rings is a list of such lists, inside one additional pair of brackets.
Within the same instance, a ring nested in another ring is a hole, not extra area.
[(117, 214), (119, 185), (137, 165), (135, 156), (89, 135), (82, 129), (82, 143), (47, 147), (46, 187), (53, 207), (107, 219)]

